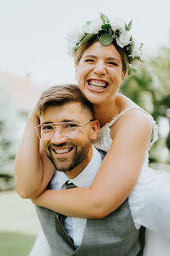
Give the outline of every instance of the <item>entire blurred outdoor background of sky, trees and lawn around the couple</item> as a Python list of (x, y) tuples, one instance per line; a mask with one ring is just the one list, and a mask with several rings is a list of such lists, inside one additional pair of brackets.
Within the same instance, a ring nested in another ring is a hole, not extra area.
[(101, 11), (133, 20), (133, 34), (144, 43), (146, 62), (122, 92), (157, 121), (150, 166), (170, 171), (169, 9), (167, 0), (0, 0), (0, 255), (29, 255), (39, 228), (34, 206), (20, 199), (13, 180), (28, 112), (47, 86), (76, 83), (65, 36)]

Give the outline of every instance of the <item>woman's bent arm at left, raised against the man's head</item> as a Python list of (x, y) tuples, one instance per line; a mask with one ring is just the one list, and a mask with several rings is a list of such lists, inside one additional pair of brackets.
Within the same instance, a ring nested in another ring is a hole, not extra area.
[[(29, 112), (25, 131), (15, 159), (16, 190), (23, 198), (32, 198), (46, 189), (54, 167), (40, 148), (34, 127), (39, 124), (36, 107)], [(43, 170), (47, 171), (43, 171)]]

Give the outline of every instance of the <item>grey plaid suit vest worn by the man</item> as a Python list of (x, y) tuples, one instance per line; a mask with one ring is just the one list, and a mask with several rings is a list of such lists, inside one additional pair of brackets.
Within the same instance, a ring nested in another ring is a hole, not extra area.
[[(101, 152), (102, 158), (104, 153)], [(60, 223), (60, 214), (36, 207), (39, 220), (54, 256), (136, 256), (142, 255), (144, 236), (136, 230), (128, 199), (102, 219), (88, 219), (78, 249)], [(141, 248), (141, 250), (140, 250)]]

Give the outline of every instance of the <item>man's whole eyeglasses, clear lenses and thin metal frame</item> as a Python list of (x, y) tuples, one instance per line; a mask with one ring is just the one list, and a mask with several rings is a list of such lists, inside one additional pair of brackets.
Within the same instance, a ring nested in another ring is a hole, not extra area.
[(79, 133), (82, 131), (82, 126), (89, 123), (89, 120), (82, 124), (78, 124), (76, 121), (63, 121), (58, 123), (49, 123), (35, 126), (36, 133), (39, 139), (51, 139), (56, 131), (56, 127), (60, 126), (60, 135), (65, 137), (65, 139), (72, 139), (78, 137)]

